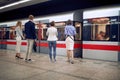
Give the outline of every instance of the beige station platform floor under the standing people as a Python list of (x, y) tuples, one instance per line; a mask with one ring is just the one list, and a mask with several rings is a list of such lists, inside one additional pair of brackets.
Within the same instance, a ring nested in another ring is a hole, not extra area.
[(0, 80), (120, 80), (120, 62), (77, 58), (70, 64), (57, 56), (51, 63), (42, 53), (33, 53), (35, 61), (25, 62), (14, 56), (15, 51), (0, 50)]

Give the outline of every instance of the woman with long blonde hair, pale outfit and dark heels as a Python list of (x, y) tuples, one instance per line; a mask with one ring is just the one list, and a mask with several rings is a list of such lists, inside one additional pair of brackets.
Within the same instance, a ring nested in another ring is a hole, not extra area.
[(21, 40), (22, 38), (24, 38), (23, 33), (22, 33), (22, 22), (21, 21), (17, 22), (15, 31), (16, 31), (16, 55), (15, 57), (19, 59), (23, 59), (20, 55)]

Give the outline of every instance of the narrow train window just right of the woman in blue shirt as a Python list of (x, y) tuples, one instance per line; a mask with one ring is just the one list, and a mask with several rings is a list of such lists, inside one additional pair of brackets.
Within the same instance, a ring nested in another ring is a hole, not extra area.
[(80, 22), (75, 22), (75, 28), (76, 28), (76, 35), (75, 35), (75, 40), (81, 40), (81, 23)]

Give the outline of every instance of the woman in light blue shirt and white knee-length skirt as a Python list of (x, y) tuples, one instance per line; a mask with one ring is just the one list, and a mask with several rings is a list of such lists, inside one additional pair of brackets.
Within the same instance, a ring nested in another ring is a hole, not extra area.
[(70, 62), (71, 64), (74, 63), (73, 59), (74, 59), (74, 36), (76, 34), (76, 29), (74, 26), (72, 26), (72, 21), (68, 20), (67, 21), (67, 25), (65, 26), (65, 31), (64, 31), (65, 35), (66, 35), (66, 49), (67, 49), (67, 57), (68, 57), (68, 62)]

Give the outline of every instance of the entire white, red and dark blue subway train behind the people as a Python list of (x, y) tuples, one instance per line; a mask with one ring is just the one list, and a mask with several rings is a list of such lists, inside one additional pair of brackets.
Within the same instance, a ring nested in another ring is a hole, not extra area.
[[(58, 29), (57, 55), (66, 56), (64, 27), (68, 19), (76, 28), (74, 57), (120, 61), (120, 8), (100, 7), (59, 13), (35, 18), (36, 34), (42, 23), (41, 38), (36, 40), (37, 53), (48, 53), (47, 36), (49, 23), (55, 21)], [(27, 19), (21, 20), (23, 26)], [(12, 36), (17, 21), (0, 23), (0, 48), (14, 50), (16, 40)], [(24, 30), (23, 30), (24, 31)], [(2, 36), (5, 35), (5, 36)], [(39, 36), (39, 34), (37, 34)], [(26, 51), (26, 40), (22, 41), (22, 51)]]

